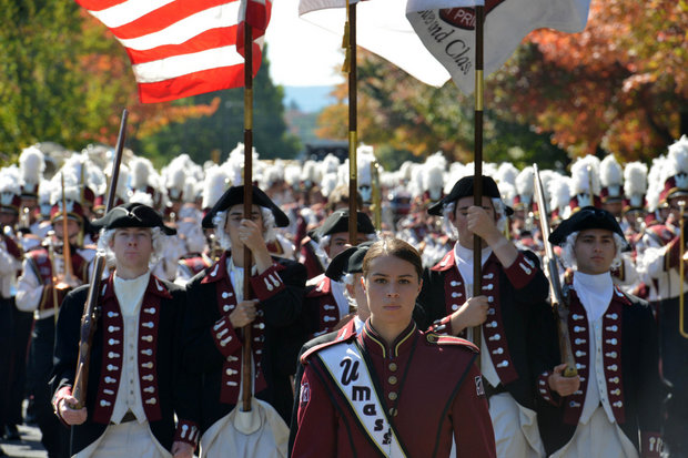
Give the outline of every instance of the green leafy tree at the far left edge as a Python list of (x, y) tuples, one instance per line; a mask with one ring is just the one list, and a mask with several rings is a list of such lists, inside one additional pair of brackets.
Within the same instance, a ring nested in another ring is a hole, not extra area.
[(39, 140), (74, 146), (88, 115), (79, 72), (81, 20), (73, 2), (0, 0), (0, 151)]

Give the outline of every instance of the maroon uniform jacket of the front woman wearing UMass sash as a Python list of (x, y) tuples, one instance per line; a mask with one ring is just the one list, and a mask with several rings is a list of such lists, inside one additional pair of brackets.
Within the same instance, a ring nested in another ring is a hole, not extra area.
[(358, 336), (324, 344), (303, 356), (305, 373), (292, 457), (382, 456), (315, 355), (353, 339), (367, 355), (383, 408), (395, 409), (388, 418), (408, 457), (448, 457), (453, 435), (457, 457), (496, 456), (482, 378), (474, 365), (477, 348), (456, 337), (421, 333), (413, 322), (386, 346), (368, 320)]

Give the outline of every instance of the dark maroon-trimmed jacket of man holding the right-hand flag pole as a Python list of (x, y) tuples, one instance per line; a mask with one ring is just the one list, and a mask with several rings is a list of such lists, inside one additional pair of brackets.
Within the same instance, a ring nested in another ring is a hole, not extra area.
[[(483, 335), (500, 384), (518, 404), (534, 409), (535, 377), (548, 368), (533, 352), (537, 345), (535, 324), (550, 308), (546, 302), (549, 284), (537, 256), (529, 251), (519, 252), (516, 261), (505, 268), (493, 253), (483, 265), (482, 289), (489, 303)], [(448, 316), (465, 302), (464, 279), (452, 250), (425, 272), (417, 301), (425, 314), (421, 327), (438, 319), (451, 327)], [(452, 329), (444, 332), (454, 334)]]

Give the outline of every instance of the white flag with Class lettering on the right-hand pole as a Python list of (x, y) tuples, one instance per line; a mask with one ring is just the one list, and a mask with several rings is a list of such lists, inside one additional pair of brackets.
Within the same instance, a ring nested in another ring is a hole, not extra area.
[(575, 33), (585, 29), (590, 0), (408, 0), (406, 18), (465, 94), (475, 90), (475, 6), (485, 7), (487, 77), (508, 60), (532, 30)]

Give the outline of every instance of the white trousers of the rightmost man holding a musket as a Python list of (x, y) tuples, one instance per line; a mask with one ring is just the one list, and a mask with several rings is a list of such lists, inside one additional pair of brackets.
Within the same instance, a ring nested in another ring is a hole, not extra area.
[(578, 424), (574, 437), (552, 458), (638, 458), (638, 451), (621, 428), (597, 407), (590, 421)]

